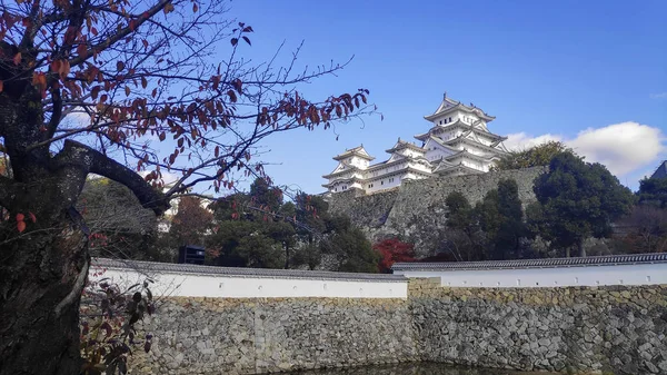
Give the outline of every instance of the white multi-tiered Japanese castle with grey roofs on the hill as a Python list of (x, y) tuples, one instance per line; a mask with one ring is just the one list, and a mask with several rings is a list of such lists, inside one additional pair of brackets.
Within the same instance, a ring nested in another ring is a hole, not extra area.
[(406, 179), (422, 179), (434, 175), (460, 176), (482, 174), (507, 152), (506, 137), (489, 131), (487, 125), (495, 119), (472, 103), (442, 98), (435, 114), (425, 116), (432, 127), (415, 136), (421, 146), (400, 138), (386, 150), (389, 159), (371, 165), (375, 158), (364, 145), (334, 157), (338, 166), (325, 185), (329, 194), (357, 189), (369, 194), (395, 188)]

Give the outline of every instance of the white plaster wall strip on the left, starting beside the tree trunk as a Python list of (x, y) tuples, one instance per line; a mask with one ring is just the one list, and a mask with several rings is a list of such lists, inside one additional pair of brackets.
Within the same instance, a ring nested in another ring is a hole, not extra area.
[[(129, 287), (147, 278), (133, 269), (109, 268), (91, 279), (111, 278)], [(198, 274), (149, 274), (155, 283), (150, 288), (156, 296), (228, 297), (228, 298), (280, 298), (280, 297), (331, 297), (331, 298), (407, 298), (408, 283), (322, 280), (275, 277), (235, 277)]]

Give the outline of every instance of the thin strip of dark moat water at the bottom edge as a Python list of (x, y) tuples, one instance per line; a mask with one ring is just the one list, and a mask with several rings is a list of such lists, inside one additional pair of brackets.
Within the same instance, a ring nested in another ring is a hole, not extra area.
[(296, 372), (298, 375), (555, 375), (555, 373), (516, 372), (498, 368), (455, 367), (435, 363), (410, 363), (350, 368), (327, 368)]

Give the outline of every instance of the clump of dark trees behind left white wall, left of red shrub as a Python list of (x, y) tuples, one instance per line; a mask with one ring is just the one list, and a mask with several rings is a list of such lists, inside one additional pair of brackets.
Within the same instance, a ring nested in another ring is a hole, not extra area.
[(212, 205), (216, 229), (209, 236), (212, 263), (230, 267), (377, 272), (377, 256), (346, 216), (331, 216), (317, 196), (298, 194), (282, 201), (277, 188), (257, 179), (249, 194)]

